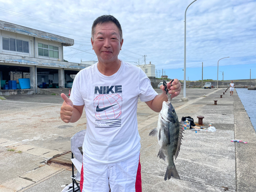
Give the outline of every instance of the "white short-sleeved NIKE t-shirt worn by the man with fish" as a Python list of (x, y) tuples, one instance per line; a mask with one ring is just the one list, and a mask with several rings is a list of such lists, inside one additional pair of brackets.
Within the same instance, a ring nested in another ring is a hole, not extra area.
[(134, 65), (121, 61), (114, 75), (105, 76), (97, 64), (76, 75), (70, 99), (74, 105), (84, 104), (86, 110), (84, 155), (100, 163), (116, 163), (140, 151), (138, 98), (150, 101), (158, 94)]

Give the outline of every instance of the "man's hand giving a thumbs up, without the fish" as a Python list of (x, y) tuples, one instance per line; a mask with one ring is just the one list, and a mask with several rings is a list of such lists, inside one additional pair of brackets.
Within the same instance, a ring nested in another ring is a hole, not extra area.
[(60, 96), (64, 100), (60, 108), (60, 118), (65, 123), (69, 123), (73, 116), (73, 102), (64, 93)]

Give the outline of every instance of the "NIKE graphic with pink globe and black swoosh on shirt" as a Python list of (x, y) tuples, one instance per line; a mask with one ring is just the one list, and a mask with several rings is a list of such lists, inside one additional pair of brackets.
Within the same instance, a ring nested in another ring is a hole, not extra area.
[(122, 100), (122, 86), (95, 86), (95, 127), (121, 126)]

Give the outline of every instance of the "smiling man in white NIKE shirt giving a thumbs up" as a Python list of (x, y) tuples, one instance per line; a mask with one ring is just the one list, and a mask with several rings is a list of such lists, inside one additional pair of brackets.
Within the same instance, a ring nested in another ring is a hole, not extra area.
[[(94, 21), (91, 43), (98, 62), (76, 75), (70, 99), (61, 94), (60, 117), (64, 122), (76, 122), (83, 107), (86, 111), (80, 187), (82, 191), (138, 192), (138, 98), (160, 112), (167, 95), (163, 86), (158, 95), (140, 68), (118, 59), (123, 38), (115, 17), (102, 15)], [(167, 88), (173, 98), (180, 94), (181, 84), (175, 79)]]

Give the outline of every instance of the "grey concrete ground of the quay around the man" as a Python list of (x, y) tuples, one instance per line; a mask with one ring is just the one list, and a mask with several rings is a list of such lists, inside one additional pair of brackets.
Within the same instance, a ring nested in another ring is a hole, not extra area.
[[(183, 92), (172, 100), (179, 120), (191, 116), (197, 123), (200, 115), (204, 116), (203, 126), (211, 123), (217, 129), (214, 133), (184, 131), (175, 160), (180, 180), (164, 181), (166, 162), (157, 158), (157, 138), (148, 136), (157, 126), (158, 113), (138, 102), (142, 191), (256, 191), (256, 133), (236, 91), (231, 97), (228, 91), (223, 95), (225, 90), (189, 88), (187, 102), (180, 102)], [(68, 91), (53, 90), (67, 95)], [(62, 122), (58, 94), (0, 100), (0, 192), (56, 192), (71, 183), (67, 167), (44, 162), (69, 151), (70, 138), (86, 128), (87, 119), (83, 115), (76, 123)], [(234, 143), (233, 139), (248, 143)]]

